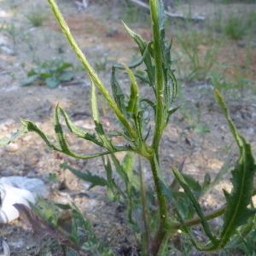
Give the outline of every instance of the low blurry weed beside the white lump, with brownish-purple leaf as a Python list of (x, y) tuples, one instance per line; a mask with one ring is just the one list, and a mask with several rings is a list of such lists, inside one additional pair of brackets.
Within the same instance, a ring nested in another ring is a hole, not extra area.
[(77, 207), (42, 199), (38, 199), (38, 206), (31, 207), (32, 210), (24, 205), (15, 204), (20, 216), (32, 225), (36, 233), (59, 241), (64, 255), (113, 256), (108, 245), (96, 239), (90, 222)]

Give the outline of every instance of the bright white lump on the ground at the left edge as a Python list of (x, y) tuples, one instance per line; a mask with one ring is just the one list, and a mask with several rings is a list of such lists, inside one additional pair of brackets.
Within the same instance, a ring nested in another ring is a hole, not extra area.
[(35, 203), (35, 197), (26, 189), (18, 189), (7, 183), (0, 183), (0, 223), (9, 223), (19, 218), (19, 212), (13, 207), (14, 204), (24, 204), (29, 207), (28, 202)]

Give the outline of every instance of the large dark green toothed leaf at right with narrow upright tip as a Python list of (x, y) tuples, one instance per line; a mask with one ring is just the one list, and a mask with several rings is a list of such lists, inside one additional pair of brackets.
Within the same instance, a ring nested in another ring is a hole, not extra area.
[(218, 103), (224, 112), (224, 116), (230, 125), (230, 131), (240, 149), (240, 157), (235, 169), (231, 172), (233, 189), (231, 193), (224, 191), (227, 201), (224, 213), (224, 225), (220, 235), (218, 248), (224, 247), (230, 240), (230, 236), (235, 234), (236, 229), (247, 223), (247, 219), (255, 214), (255, 209), (248, 208), (253, 196), (253, 177), (255, 174), (254, 159), (251, 146), (241, 137), (236, 130), (236, 126), (230, 119), (230, 113), (218, 90), (215, 90)]

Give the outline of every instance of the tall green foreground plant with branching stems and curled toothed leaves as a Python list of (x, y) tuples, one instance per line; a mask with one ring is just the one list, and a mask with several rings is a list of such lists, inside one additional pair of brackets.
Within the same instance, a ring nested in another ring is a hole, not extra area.
[[(251, 200), (255, 194), (253, 177), (256, 170), (253, 153), (245, 138), (241, 137), (236, 130), (223, 98), (216, 90), (218, 103), (240, 152), (236, 166), (231, 172), (233, 189), (230, 193), (224, 191), (224, 205), (206, 213), (200, 204), (201, 197), (226, 173), (224, 168), (212, 182), (206, 175), (203, 183), (199, 183), (193, 177), (182, 173), (182, 168), (175, 167), (172, 169), (173, 182), (170, 183), (164, 178), (160, 165), (160, 141), (172, 114), (178, 109), (173, 108), (177, 95), (177, 81), (172, 70), (172, 44), (168, 44), (165, 37), (162, 1), (150, 0), (149, 3), (153, 41), (144, 41), (140, 35), (124, 24), (126, 31), (137, 43), (142, 58), (129, 66), (115, 65), (113, 67), (111, 84), (113, 96), (111, 96), (79, 49), (55, 1), (49, 0), (62, 32), (90, 77), (90, 103), (96, 134), (91, 134), (74, 125), (67, 112), (57, 105), (55, 108), (55, 141), (50, 140), (33, 122), (22, 119), (21, 130), (9, 140), (2, 141), (2, 144), (11, 142), (22, 133), (33, 131), (44, 140), (49, 148), (76, 159), (88, 160), (103, 157), (106, 177), (96, 176), (89, 171), (80, 172), (70, 166), (64, 167), (68, 167), (78, 177), (90, 182), (90, 187), (106, 187), (108, 196), (126, 207), (128, 222), (131, 228), (140, 235), (142, 255), (169, 255), (172, 249), (169, 247), (170, 241), (175, 245), (174, 239), (180, 236), (180, 233), (187, 240), (189, 239), (197, 250), (217, 252), (229, 246), (238, 233), (245, 236), (247, 230), (252, 229), (252, 225), (249, 224), (255, 215)], [(136, 76), (132, 72), (132, 69), (142, 64), (146, 67), (147, 76), (138, 77), (138, 79), (149, 84), (153, 99), (141, 96)], [(122, 90), (116, 78), (116, 73), (120, 69), (125, 70), (131, 79), (131, 91), (128, 95)], [(106, 99), (119, 120), (119, 131), (105, 131), (98, 111), (97, 91)], [(150, 127), (150, 122), (148, 122), (150, 113), (153, 113), (151, 117), (154, 119), (154, 127)], [(102, 148), (102, 151), (95, 154), (73, 152), (64, 135), (61, 118), (64, 119), (69, 131), (79, 138), (96, 144), (97, 147)], [(113, 137), (122, 137), (124, 144), (115, 144)], [(124, 151), (126, 152), (124, 159), (119, 160), (116, 154)], [(137, 168), (135, 160), (138, 160)], [(151, 167), (153, 184), (146, 183), (143, 177), (143, 161), (147, 161)], [(117, 172), (119, 178), (114, 177), (113, 172)], [(220, 216), (223, 216), (224, 224), (217, 230), (212, 229), (209, 220)], [(200, 225), (204, 232), (203, 241), (194, 235), (193, 227), (197, 225)], [(83, 246), (75, 247), (75, 250), (84, 253)]]

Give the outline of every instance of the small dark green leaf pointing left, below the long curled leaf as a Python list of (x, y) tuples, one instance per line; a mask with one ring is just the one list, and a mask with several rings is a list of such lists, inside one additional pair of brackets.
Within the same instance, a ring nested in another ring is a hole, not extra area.
[(65, 166), (62, 165), (62, 168), (68, 169), (75, 176), (79, 177), (80, 179), (84, 180), (85, 182), (90, 183), (89, 189), (92, 189), (93, 187), (96, 187), (96, 186), (104, 187), (104, 186), (108, 185), (108, 181), (105, 178), (99, 177), (97, 175), (93, 175), (89, 171), (81, 172), (81, 171), (77, 170), (76, 168), (73, 168), (72, 166), (68, 166), (67, 164)]

